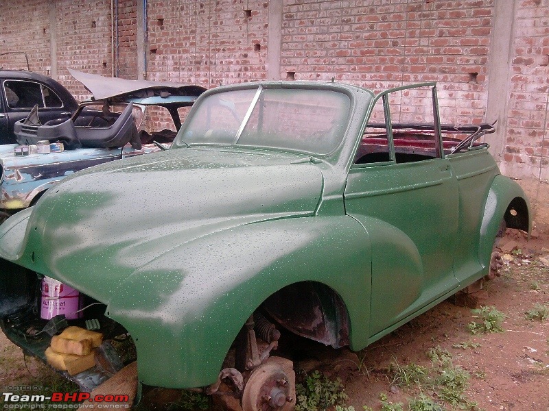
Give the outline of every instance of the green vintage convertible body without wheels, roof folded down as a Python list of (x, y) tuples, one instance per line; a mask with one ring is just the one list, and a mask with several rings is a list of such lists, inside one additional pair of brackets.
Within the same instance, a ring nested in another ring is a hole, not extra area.
[[(428, 124), (392, 122), (410, 90)], [(258, 309), (360, 350), (488, 275), (502, 221), (530, 230), (522, 189), (452, 130), (434, 84), (209, 90), (170, 150), (75, 173), (0, 226), (4, 332), (40, 356), (10, 320), (38, 273), (106, 305), (144, 384), (213, 384)]]

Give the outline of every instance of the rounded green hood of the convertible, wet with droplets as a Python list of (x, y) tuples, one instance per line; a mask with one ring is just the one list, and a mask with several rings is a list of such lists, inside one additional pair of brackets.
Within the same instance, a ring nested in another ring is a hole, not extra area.
[[(139, 267), (185, 242), (314, 214), (323, 175), (300, 158), (188, 148), (95, 166), (3, 223), (0, 257), (106, 303)], [(212, 249), (208, 258), (223, 256)]]

